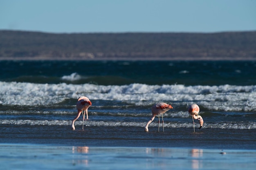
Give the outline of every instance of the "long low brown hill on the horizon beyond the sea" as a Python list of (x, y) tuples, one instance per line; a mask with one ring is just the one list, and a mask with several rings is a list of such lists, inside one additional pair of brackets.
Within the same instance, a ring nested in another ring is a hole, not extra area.
[(0, 31), (0, 59), (256, 60), (256, 31), (72, 34)]

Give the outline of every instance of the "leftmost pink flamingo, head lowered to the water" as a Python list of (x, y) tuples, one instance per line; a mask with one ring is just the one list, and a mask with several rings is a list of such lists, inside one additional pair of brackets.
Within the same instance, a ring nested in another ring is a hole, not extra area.
[(86, 113), (86, 120), (88, 120), (88, 107), (92, 105), (92, 102), (89, 100), (89, 98), (85, 96), (81, 96), (78, 98), (78, 101), (76, 102), (76, 108), (77, 108), (77, 116), (72, 120), (72, 129), (75, 130), (74, 123), (79, 118), (79, 116), (83, 115), (83, 121), (85, 120), (85, 113)]

